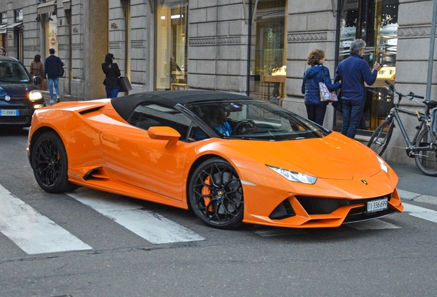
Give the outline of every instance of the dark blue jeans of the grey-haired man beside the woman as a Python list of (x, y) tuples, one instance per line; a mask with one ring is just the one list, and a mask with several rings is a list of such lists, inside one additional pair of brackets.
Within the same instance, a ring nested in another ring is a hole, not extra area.
[(344, 100), (341, 103), (343, 111), (343, 124), (341, 134), (355, 138), (361, 118), (363, 117), (364, 104), (366, 101)]

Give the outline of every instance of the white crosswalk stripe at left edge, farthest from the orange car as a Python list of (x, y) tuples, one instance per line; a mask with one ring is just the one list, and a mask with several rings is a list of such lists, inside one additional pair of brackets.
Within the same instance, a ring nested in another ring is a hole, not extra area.
[(1, 185), (0, 232), (27, 254), (92, 249)]

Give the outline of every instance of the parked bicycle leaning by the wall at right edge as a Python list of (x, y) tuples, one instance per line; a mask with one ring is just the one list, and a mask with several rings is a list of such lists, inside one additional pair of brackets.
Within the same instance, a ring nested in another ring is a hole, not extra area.
[[(396, 91), (394, 86), (387, 80), (385, 80), (385, 83), (388, 85), (388, 87), (385, 86), (385, 89), (397, 94), (399, 100), (392, 111), (390, 111), (385, 121), (378, 126), (370, 137), (368, 147), (372, 148), (375, 153), (381, 156), (390, 142), (396, 120), (401, 129), (403, 138), (407, 143), (405, 151), (407, 152), (408, 157), (414, 157), (417, 167), (423, 174), (437, 176), (437, 102), (434, 100), (423, 100), (422, 102), (425, 104), (425, 113), (402, 109), (399, 107), (402, 98), (407, 98), (408, 100), (420, 103), (414, 98), (423, 99), (423, 96), (414, 95), (412, 92), (408, 95), (401, 94)], [(399, 113), (416, 116), (421, 123), (419, 126), (416, 126), (416, 135), (414, 135), (412, 141), (410, 141), (410, 137), (408, 137), (407, 131), (405, 131)]]

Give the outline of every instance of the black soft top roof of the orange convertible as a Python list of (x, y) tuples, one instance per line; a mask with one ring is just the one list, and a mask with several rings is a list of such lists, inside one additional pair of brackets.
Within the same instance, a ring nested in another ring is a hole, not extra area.
[(176, 104), (182, 105), (194, 102), (206, 102), (215, 100), (254, 100), (247, 96), (231, 94), (222, 91), (150, 91), (136, 93), (111, 99), (115, 111), (124, 120), (128, 120), (133, 110), (140, 104), (159, 104), (172, 108)]

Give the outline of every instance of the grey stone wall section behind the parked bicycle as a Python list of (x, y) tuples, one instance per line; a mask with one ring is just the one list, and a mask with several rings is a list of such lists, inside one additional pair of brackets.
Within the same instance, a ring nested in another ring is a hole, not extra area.
[[(399, 1), (395, 87), (403, 94), (408, 94), (410, 91), (420, 96), (426, 94), (433, 3), (434, 1), (431, 0)], [(437, 100), (437, 50), (434, 50), (433, 68), (431, 100)], [(425, 105), (422, 102), (416, 103), (403, 99), (401, 106), (413, 111), (423, 111)], [(418, 120), (409, 115), (401, 115), (401, 119), (412, 140), (416, 133), (414, 127), (419, 124)], [(400, 129), (396, 128), (383, 157), (392, 162), (414, 164), (414, 158), (407, 157), (405, 147), (403, 135)]]

